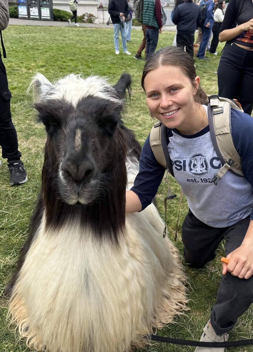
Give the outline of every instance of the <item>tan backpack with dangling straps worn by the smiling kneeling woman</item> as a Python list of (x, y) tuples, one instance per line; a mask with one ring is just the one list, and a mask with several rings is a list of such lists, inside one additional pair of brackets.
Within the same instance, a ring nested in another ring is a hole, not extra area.
[[(231, 134), (231, 108), (243, 112), (240, 104), (236, 99), (230, 100), (227, 98), (220, 98), (219, 95), (210, 95), (208, 96), (208, 120), (211, 140), (213, 142), (214, 150), (216, 151), (217, 156), (220, 159), (222, 164), (221, 169), (214, 175), (213, 179), (210, 180), (217, 186), (217, 183), (221, 180), (224, 174), (229, 170), (233, 174), (243, 177), (243, 172), (241, 169), (241, 157), (235, 149), (233, 137)], [(163, 237), (166, 235), (166, 209), (167, 209), (167, 200), (174, 199), (176, 195), (172, 194), (171, 188), (169, 186), (169, 181), (167, 179), (168, 172), (174, 176), (172, 162), (169, 156), (167, 149), (167, 140), (166, 140), (166, 130), (167, 127), (162, 124), (162, 122), (156, 122), (152, 127), (150, 132), (150, 146), (154, 157), (157, 162), (164, 166), (167, 170), (165, 176), (165, 182), (168, 185), (169, 191), (168, 196), (165, 197), (164, 206), (165, 206), (165, 228), (163, 232)], [(183, 192), (181, 190), (180, 195), (180, 207), (183, 199)], [(179, 213), (178, 213), (179, 219)], [(178, 225), (177, 219), (177, 225)], [(177, 225), (175, 231), (175, 240), (177, 238)]]

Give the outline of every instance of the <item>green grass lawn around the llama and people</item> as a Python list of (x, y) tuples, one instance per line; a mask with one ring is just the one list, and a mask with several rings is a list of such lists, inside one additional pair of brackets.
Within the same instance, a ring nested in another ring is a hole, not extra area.
[[(175, 33), (164, 32), (159, 36), (158, 48), (171, 45)], [(133, 30), (128, 50), (132, 56), (115, 55), (112, 26), (108, 29), (9, 26), (3, 32), (7, 51), (5, 65), (12, 92), (12, 116), (17, 128), (19, 149), (28, 174), (28, 182), (20, 187), (9, 185), (9, 172), (6, 160), (0, 168), (0, 352), (26, 351), (23, 342), (17, 342), (6, 323), (7, 300), (4, 289), (15, 267), (19, 251), (28, 234), (30, 217), (36, 204), (40, 189), (40, 175), (43, 164), (45, 131), (36, 124), (36, 112), (32, 108), (32, 95), (26, 94), (32, 76), (36, 72), (54, 80), (68, 73), (86, 73), (108, 76), (115, 83), (126, 71), (133, 77), (133, 96), (131, 106), (125, 114), (125, 123), (132, 128), (141, 144), (151, 130), (153, 121), (148, 114), (145, 95), (140, 86), (144, 62), (133, 59), (133, 55), (142, 40), (142, 31)], [(208, 94), (216, 94), (217, 70), (222, 44), (218, 47), (218, 56), (209, 54), (210, 60), (196, 60), (196, 71), (201, 84)], [(179, 187), (171, 180), (173, 191), (179, 193)], [(158, 193), (159, 210), (164, 216), (163, 198), (166, 187), (162, 183)], [(169, 231), (173, 240), (178, 214), (179, 197), (169, 204)], [(181, 226), (187, 212), (184, 199), (179, 218), (179, 235), (176, 246), (183, 256), (180, 236)], [(162, 234), (161, 234), (162, 236)], [(163, 329), (163, 335), (182, 339), (199, 339), (202, 328), (209, 319), (210, 310), (215, 303), (219, 287), (224, 255), (224, 246), (217, 251), (217, 259), (202, 269), (189, 269), (185, 266), (191, 287), (189, 288), (189, 307), (186, 316), (175, 319), (175, 324)], [(183, 259), (182, 259), (183, 260)], [(230, 334), (230, 340), (252, 338), (252, 308), (239, 319)], [(194, 347), (156, 344), (147, 351), (194, 351)], [(229, 351), (253, 351), (253, 347), (231, 348)], [(74, 351), (73, 351), (74, 352)], [(211, 352), (211, 349), (210, 349)]]

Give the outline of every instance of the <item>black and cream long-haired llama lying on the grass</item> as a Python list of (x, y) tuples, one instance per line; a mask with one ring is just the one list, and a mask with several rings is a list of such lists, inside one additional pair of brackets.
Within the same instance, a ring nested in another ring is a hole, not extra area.
[(9, 316), (36, 351), (129, 352), (186, 310), (186, 276), (151, 204), (125, 214), (140, 145), (116, 85), (70, 74), (31, 83), (47, 141), (30, 235), (7, 287)]

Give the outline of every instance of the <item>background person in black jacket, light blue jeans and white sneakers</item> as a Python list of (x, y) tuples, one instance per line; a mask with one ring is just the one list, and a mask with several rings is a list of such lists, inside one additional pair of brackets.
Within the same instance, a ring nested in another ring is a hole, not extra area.
[(131, 55), (131, 52), (127, 50), (126, 40), (126, 18), (129, 13), (127, 0), (110, 0), (108, 12), (111, 16), (113, 27), (114, 27), (114, 46), (115, 54), (119, 55), (119, 32), (121, 33), (123, 53)]

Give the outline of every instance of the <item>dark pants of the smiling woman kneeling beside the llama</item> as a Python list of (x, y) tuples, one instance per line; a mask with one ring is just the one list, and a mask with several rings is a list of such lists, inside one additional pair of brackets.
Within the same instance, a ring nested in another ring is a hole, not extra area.
[[(226, 239), (224, 257), (240, 247), (248, 230), (249, 216), (236, 224), (215, 228), (205, 225), (189, 210), (182, 226), (182, 241), (187, 263), (200, 268), (216, 256), (216, 249)], [(233, 328), (237, 319), (253, 302), (253, 276), (240, 279), (229, 272), (222, 276), (216, 303), (211, 312), (211, 325), (217, 335)]]

